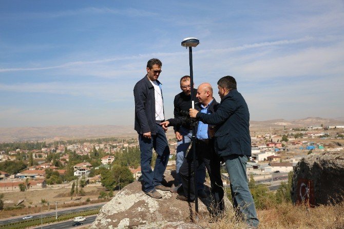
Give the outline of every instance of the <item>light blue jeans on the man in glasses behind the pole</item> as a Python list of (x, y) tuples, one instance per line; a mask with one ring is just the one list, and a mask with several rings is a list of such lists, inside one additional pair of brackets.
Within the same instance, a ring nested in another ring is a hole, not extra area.
[[(193, 131), (186, 129), (184, 127), (180, 127), (179, 128), (179, 132), (180, 134), (183, 136), (183, 139), (181, 141), (178, 141), (177, 143), (177, 151), (176, 151), (176, 180), (175, 180), (175, 185), (179, 185), (182, 183), (182, 180), (180, 178), (180, 173), (179, 173), (179, 169), (180, 166), (182, 166), (183, 161), (186, 157), (186, 151), (187, 148), (189, 147), (189, 145), (191, 144), (191, 138), (193, 135)], [(202, 163), (198, 168), (197, 168), (197, 178), (196, 178), (196, 182), (197, 182), (197, 189), (198, 190), (203, 190), (204, 188), (204, 180), (205, 180), (205, 165), (204, 163)]]

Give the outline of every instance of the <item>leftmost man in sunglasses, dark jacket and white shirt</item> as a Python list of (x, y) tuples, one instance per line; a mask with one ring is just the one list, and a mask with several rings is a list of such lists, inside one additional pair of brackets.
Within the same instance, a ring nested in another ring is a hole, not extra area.
[[(152, 198), (162, 198), (157, 189), (169, 191), (162, 185), (169, 157), (169, 147), (164, 129), (165, 120), (161, 83), (158, 81), (162, 63), (158, 59), (147, 62), (147, 74), (134, 87), (135, 130), (139, 134), (143, 192)], [(157, 152), (154, 171), (150, 167), (152, 149)]]

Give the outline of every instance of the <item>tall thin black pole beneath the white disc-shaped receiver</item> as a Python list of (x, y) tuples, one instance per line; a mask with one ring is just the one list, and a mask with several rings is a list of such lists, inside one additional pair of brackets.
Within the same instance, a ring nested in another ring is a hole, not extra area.
[[(190, 46), (189, 47), (189, 63), (190, 63), (190, 90), (191, 90), (191, 103), (192, 108), (195, 109), (195, 101), (194, 101), (194, 72), (193, 72), (193, 49)], [(193, 136), (191, 138), (192, 140), (192, 146), (193, 146), (193, 158), (194, 158), (194, 184), (195, 184), (195, 211), (196, 211), (196, 217), (198, 214), (198, 193), (197, 193), (197, 168), (196, 168), (196, 126), (192, 125), (193, 129)], [(189, 189), (190, 190), (190, 189)]]

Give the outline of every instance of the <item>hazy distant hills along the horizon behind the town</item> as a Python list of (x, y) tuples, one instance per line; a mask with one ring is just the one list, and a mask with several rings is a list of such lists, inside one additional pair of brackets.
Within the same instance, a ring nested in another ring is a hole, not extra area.
[[(344, 117), (323, 119), (308, 117), (297, 120), (274, 119), (267, 121), (251, 121), (250, 128), (269, 127), (305, 127), (309, 125), (344, 125)], [(169, 128), (170, 130), (172, 128)], [(174, 136), (173, 132), (169, 135)], [(57, 141), (69, 139), (104, 138), (104, 137), (136, 137), (133, 126), (118, 125), (83, 125), (83, 126), (44, 126), (0, 128), (0, 142), (16, 141)]]

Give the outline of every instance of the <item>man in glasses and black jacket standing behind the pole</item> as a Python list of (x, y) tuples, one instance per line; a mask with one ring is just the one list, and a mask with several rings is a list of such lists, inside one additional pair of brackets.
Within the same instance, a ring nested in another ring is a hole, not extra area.
[[(180, 79), (180, 89), (182, 92), (175, 96), (174, 100), (174, 116), (176, 118), (185, 117), (182, 112), (188, 113), (191, 108), (191, 80), (189, 75), (184, 75)], [(194, 88), (194, 101), (198, 101), (196, 98), (197, 89)], [(196, 102), (197, 103), (197, 102)], [(186, 157), (186, 150), (190, 146), (192, 138), (192, 127), (190, 123), (183, 123), (182, 125), (174, 126), (177, 142), (176, 150), (176, 179), (173, 187), (170, 191), (177, 193), (178, 188), (181, 187), (182, 181), (179, 173), (179, 168), (182, 165), (184, 158)], [(205, 198), (206, 193), (204, 192), (204, 180), (205, 180), (205, 165), (202, 163), (197, 169), (197, 192), (198, 196)]]

